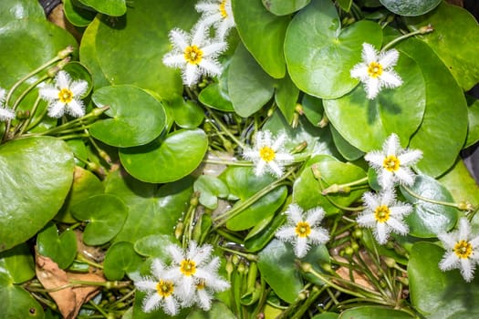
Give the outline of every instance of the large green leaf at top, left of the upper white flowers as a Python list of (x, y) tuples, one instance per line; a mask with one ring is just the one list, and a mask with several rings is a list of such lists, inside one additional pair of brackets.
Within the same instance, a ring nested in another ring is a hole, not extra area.
[(178, 27), (188, 32), (197, 22), (195, 3), (135, 0), (128, 15), (103, 16), (96, 33), (95, 56), (110, 83), (150, 89), (164, 99), (181, 95), (180, 70), (166, 67), (161, 59), (172, 49), (169, 30)]

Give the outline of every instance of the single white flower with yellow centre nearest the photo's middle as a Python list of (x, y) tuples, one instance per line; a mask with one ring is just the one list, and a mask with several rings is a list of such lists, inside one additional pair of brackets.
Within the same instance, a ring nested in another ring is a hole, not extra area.
[(261, 176), (265, 171), (269, 171), (281, 177), (284, 166), (293, 161), (293, 156), (284, 150), (286, 134), (280, 134), (277, 139), (273, 139), (271, 132), (258, 131), (255, 137), (255, 148), (246, 148), (243, 151), (245, 160), (251, 160), (255, 163), (255, 175)]

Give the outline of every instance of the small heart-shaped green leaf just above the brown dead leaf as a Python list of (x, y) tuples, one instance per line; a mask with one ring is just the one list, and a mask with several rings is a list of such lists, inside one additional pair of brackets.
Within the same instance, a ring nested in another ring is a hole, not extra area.
[(66, 269), (77, 256), (77, 236), (67, 230), (58, 235), (57, 226), (49, 222), (36, 236), (36, 248), (40, 255), (57, 262), (58, 267)]

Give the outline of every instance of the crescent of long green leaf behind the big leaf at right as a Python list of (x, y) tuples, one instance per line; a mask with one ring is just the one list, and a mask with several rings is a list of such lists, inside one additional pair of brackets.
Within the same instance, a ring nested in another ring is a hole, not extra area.
[(430, 47), (410, 39), (399, 48), (418, 63), (426, 84), (427, 107), (409, 147), (422, 150), (418, 169), (425, 175), (437, 177), (453, 166), (463, 149), (467, 135), (467, 103), (463, 90)]

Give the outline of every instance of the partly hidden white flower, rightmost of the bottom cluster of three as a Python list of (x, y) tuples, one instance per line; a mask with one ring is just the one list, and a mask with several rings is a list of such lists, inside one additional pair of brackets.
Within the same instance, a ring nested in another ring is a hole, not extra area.
[(193, 298), (183, 301), (183, 306), (198, 304), (204, 311), (211, 308), (213, 293), (223, 292), (230, 287), (230, 283), (224, 281), (218, 274), (220, 259), (214, 257), (211, 262), (204, 266), (204, 270), (212, 274), (213, 281), (200, 279), (195, 283)]

